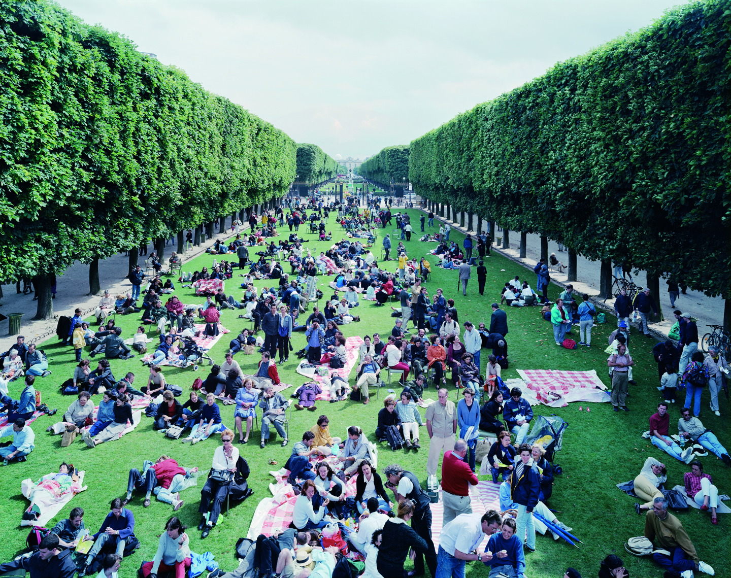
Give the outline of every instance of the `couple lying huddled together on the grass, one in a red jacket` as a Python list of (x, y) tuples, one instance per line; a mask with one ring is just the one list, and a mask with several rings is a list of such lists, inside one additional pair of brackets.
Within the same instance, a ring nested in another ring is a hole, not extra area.
[(143, 507), (150, 505), (150, 495), (155, 494), (159, 501), (172, 504), (173, 511), (178, 512), (183, 505), (180, 492), (190, 487), (189, 478), (197, 471), (197, 467), (183, 468), (168, 455), (161, 455), (155, 463), (145, 460), (142, 472), (137, 468), (129, 470), (127, 495), (122, 506), (126, 506), (132, 499), (133, 490), (144, 490), (146, 494)]

